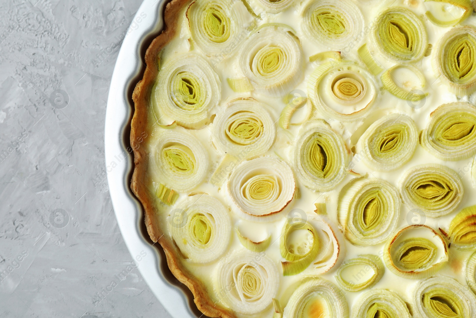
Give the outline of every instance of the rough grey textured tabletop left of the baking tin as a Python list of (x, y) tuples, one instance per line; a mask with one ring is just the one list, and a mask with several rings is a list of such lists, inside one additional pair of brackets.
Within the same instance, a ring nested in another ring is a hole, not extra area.
[(141, 0), (37, 1), (0, 0), (0, 317), (170, 317), (131, 263), (104, 168), (110, 77)]

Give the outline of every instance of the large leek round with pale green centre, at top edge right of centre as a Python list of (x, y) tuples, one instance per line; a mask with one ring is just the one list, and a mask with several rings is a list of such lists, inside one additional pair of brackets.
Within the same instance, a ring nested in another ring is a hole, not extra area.
[(309, 1), (302, 10), (303, 31), (319, 45), (342, 51), (349, 42), (360, 37), (364, 17), (350, 0)]

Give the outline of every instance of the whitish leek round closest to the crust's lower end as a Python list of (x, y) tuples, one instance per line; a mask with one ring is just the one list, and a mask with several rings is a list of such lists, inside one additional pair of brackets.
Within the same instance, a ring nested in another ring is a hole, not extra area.
[(271, 305), (279, 287), (279, 271), (264, 253), (239, 252), (217, 268), (218, 297), (234, 311), (256, 314)]

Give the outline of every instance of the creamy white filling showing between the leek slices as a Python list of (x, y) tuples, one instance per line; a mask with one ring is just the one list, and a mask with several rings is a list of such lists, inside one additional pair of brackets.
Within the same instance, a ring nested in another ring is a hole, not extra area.
[[(299, 2), (299, 1), (296, 1)], [(416, 3), (416, 5), (415, 5)], [(356, 1), (357, 6), (360, 7), (362, 13), (364, 14), (366, 20), (366, 26), (377, 17), (378, 13), (385, 9), (385, 6), (380, 3), (380, 1)], [(304, 2), (303, 4), (304, 5)], [(407, 7), (410, 10), (413, 10), (418, 16), (424, 15), (426, 8), (421, 1), (403, 1), (398, 0), (394, 6), (403, 6)], [(239, 11), (239, 16), (242, 16), (243, 25), (249, 26), (251, 23), (250, 15), (246, 11), (246, 8), (241, 5), (241, 1), (237, 1), (234, 4), (234, 8)], [(297, 94), (307, 94), (307, 81), (310, 73), (314, 70), (317, 63), (316, 62), (308, 62), (308, 58), (318, 52), (327, 51), (325, 47), (319, 47), (314, 41), (310, 41), (305, 37), (305, 35), (301, 32), (301, 28), (299, 25), (300, 12), (298, 5), (292, 5), (288, 10), (278, 13), (278, 14), (266, 14), (266, 12), (262, 13), (262, 21), (258, 22), (258, 25), (263, 23), (285, 23), (292, 27), (296, 31), (297, 37), (301, 39), (302, 48), (304, 52), (304, 57), (307, 61), (306, 69), (304, 71), (305, 79), (300, 82), (294, 89), (293, 93)], [(163, 61), (167, 61), (169, 58), (180, 54), (185, 53), (190, 50), (190, 44), (188, 39), (190, 38), (190, 33), (188, 31), (188, 23), (183, 19), (183, 14), (180, 18), (180, 28), (178, 31), (178, 37), (172, 40), (169, 45), (166, 47), (162, 54)], [(468, 20), (464, 22), (464, 24), (473, 24), (476, 25), (476, 18), (473, 15)], [(426, 27), (426, 31), (428, 33), (428, 42), (432, 44), (433, 49), (435, 49), (437, 40), (441, 38), (441, 36), (446, 33), (446, 31), (450, 30), (451, 28), (441, 28), (433, 25), (431, 22), (425, 20), (424, 25)], [(248, 31), (243, 31), (243, 39), (246, 39), (248, 35)], [(364, 43), (368, 42), (369, 34), (367, 34), (363, 41), (356, 41), (355, 43), (349, 43), (349, 50), (344, 50), (341, 52), (346, 59), (352, 61), (358, 61), (357, 49)], [(237, 54), (236, 52), (239, 50), (239, 45), (235, 50), (232, 52), (224, 52), (222, 55), (209, 58), (208, 61), (213, 66), (215, 71), (218, 73), (218, 76), (221, 80), (221, 88), (222, 88), (222, 100), (220, 101), (219, 105), (223, 107), (227, 101), (233, 100), (237, 97), (253, 97), (258, 101), (266, 103), (270, 105), (268, 107), (268, 111), (273, 117), (274, 120), (278, 121), (279, 114), (281, 113), (282, 109), (285, 107), (285, 99), (282, 98), (270, 98), (267, 96), (263, 96), (258, 94), (257, 92), (250, 92), (250, 93), (236, 93), (233, 92), (227, 83), (227, 78), (237, 78), (240, 77), (240, 72), (238, 69), (237, 63)], [(193, 51), (198, 51), (198, 47), (193, 47)], [(376, 57), (377, 58), (377, 57)], [(426, 77), (427, 87), (425, 92), (428, 92), (429, 95), (426, 97), (426, 101), (424, 102), (423, 107), (419, 107), (419, 104), (411, 104), (411, 102), (407, 102), (404, 100), (400, 100), (397, 97), (393, 96), (387, 91), (379, 92), (380, 98), (377, 101), (374, 110), (372, 113), (367, 116), (367, 118), (351, 122), (351, 123), (341, 123), (331, 118), (326, 118), (325, 116), (321, 116), (324, 118), (331, 126), (336, 130), (338, 133), (341, 133), (344, 137), (345, 142), (349, 148), (352, 148), (358, 140), (359, 135), (361, 135), (365, 131), (365, 127), (369, 126), (371, 123), (376, 121), (377, 119), (381, 118), (385, 114), (388, 113), (404, 113), (407, 116), (411, 117), (419, 131), (423, 130), (427, 124), (429, 119), (429, 114), (433, 112), (436, 107), (440, 106), (444, 103), (451, 103), (456, 102), (457, 98), (454, 94), (448, 92), (446, 85), (440, 82), (433, 72), (433, 68), (431, 65), (431, 59), (433, 56), (424, 57), (421, 61), (416, 63), (416, 67), (419, 68)], [(384, 68), (389, 68), (393, 66), (391, 62), (387, 61), (378, 61)], [(401, 74), (399, 74), (401, 75)], [(413, 83), (413, 78), (410, 78), (411, 82)], [(418, 83), (418, 81), (416, 80)], [(405, 86), (405, 83), (401, 83), (402, 86)], [(413, 85), (412, 85), (413, 86)], [(470, 101), (474, 101), (474, 97), (469, 98)], [(462, 101), (468, 101), (462, 100)], [(153, 116), (151, 113), (149, 116)], [(152, 117), (153, 118), (153, 117)], [(172, 120), (170, 120), (171, 122)], [(276, 123), (277, 124), (277, 123)], [(361, 127), (363, 125), (363, 127)], [(154, 138), (157, 136), (157, 126), (150, 128), (150, 138), (148, 139), (148, 144), (146, 144), (147, 150), (150, 154), (153, 154), (153, 145), (155, 144)], [(207, 150), (210, 155), (211, 160), (211, 170), (209, 171), (209, 175), (206, 180), (209, 180), (211, 175), (213, 174), (214, 170), (217, 168), (218, 164), (221, 162), (224, 154), (219, 154), (218, 151), (214, 148), (213, 144), (210, 142), (212, 140), (211, 131), (213, 123), (208, 126), (208, 128), (204, 128), (201, 130), (191, 130), (189, 131), (193, 135), (195, 135), (198, 139), (203, 141), (204, 144), (207, 144)], [(359, 128), (360, 127), (360, 128)], [(291, 158), (292, 154), (292, 147), (293, 141), (297, 132), (300, 128), (300, 125), (297, 126), (290, 126), (288, 130), (278, 129), (278, 134), (274, 145), (271, 149), (265, 154), (269, 155), (278, 155), (286, 160), (289, 164), (293, 163)], [(472, 182), (471, 182), (471, 164), (472, 158), (456, 161), (456, 162), (444, 162), (442, 160), (436, 159), (432, 155), (428, 154), (421, 146), (417, 147), (417, 151), (414, 154), (413, 158), (405, 165), (400, 167), (399, 169), (393, 172), (375, 172), (368, 168), (363, 161), (361, 160), (362, 155), (359, 155), (360, 149), (355, 149), (357, 155), (354, 156), (354, 159), (351, 163), (353, 167), (352, 170), (362, 174), (368, 175), (369, 177), (377, 177), (383, 180), (388, 181), (390, 184), (398, 186), (397, 182), (400, 176), (407, 171), (408, 168), (418, 165), (418, 164), (444, 164), (451, 169), (455, 170), (456, 173), (460, 175), (463, 180), (463, 184), (465, 186), (466, 195), (464, 198), (464, 206), (470, 206), (476, 204), (476, 196), (471, 195), (472, 191), (475, 191)], [(315, 193), (309, 190), (304, 185), (300, 184), (299, 181), (296, 179), (297, 186), (299, 187), (300, 191), (300, 198), (294, 200), (294, 204), (290, 208), (289, 212), (282, 215), (277, 220), (272, 220), (268, 223), (254, 223), (247, 220), (242, 220), (238, 218), (238, 214), (234, 213), (233, 211), (230, 212), (232, 217), (232, 224), (238, 226), (242, 235), (247, 236), (249, 239), (255, 242), (259, 242), (264, 238), (271, 235), (271, 245), (266, 250), (266, 255), (270, 257), (272, 260), (276, 261), (276, 264), (280, 267), (280, 262), (284, 260), (279, 252), (279, 236), (281, 234), (281, 230), (283, 224), (285, 222), (285, 218), (287, 215), (293, 216), (293, 214), (299, 215), (302, 213), (301, 211), (305, 211), (307, 215), (314, 214), (315, 206), (314, 203), (318, 202), (325, 202), (327, 204), (327, 211), (329, 214), (330, 220), (333, 222), (334, 225), (337, 225), (337, 196), (342, 186), (346, 185), (349, 180), (353, 177), (352, 174), (348, 174), (346, 179), (337, 186), (336, 189), (329, 191), (327, 193)], [(152, 177), (150, 187), (153, 187), (159, 182), (159, 180), (155, 180)], [(220, 198), (224, 203), (228, 206), (231, 205), (231, 198), (228, 196), (228, 192), (226, 189), (226, 180), (223, 180), (223, 184), (221, 186), (214, 186), (209, 183), (202, 183), (193, 192), (206, 192), (210, 195), (214, 195)], [(184, 196), (188, 194), (180, 194), (180, 197), (177, 202), (179, 202)], [(460, 208), (463, 208), (461, 206)], [(411, 208), (405, 204), (402, 204), (401, 211), (400, 211), (400, 219), (397, 228), (401, 228), (404, 226), (408, 226), (409, 224), (422, 224), (425, 223), (427, 226), (430, 226), (434, 229), (438, 227), (447, 228), (452, 218), (456, 215), (456, 213), (460, 210), (460, 208), (456, 209), (456, 212), (444, 217), (439, 217), (437, 219), (432, 219), (427, 217), (426, 219), (422, 219), (420, 215), (414, 214), (411, 211)], [(159, 215), (161, 220), (166, 224), (167, 222), (167, 215), (168, 213), (162, 213)], [(410, 223), (409, 223), (410, 222)], [(233, 230), (234, 231), (234, 230)], [(341, 239), (339, 241), (341, 245), (341, 250), (345, 254), (341, 255), (344, 256), (341, 259), (351, 259), (358, 255), (362, 254), (373, 254), (378, 256), (383, 256), (383, 247), (384, 243), (377, 245), (377, 246), (367, 246), (367, 247), (357, 247), (349, 243), (345, 239)], [(236, 233), (232, 234), (232, 239), (228, 248), (229, 253), (234, 253), (235, 251), (244, 249), (241, 246), (240, 242), (238, 241), (238, 237)], [(227, 253), (225, 253), (226, 255)], [(456, 278), (463, 284), (466, 284), (464, 278), (464, 271), (463, 271), (463, 264), (466, 259), (470, 256), (471, 252), (461, 252), (455, 249), (450, 249), (450, 262), (448, 266), (443, 267), (438, 274), (448, 275), (450, 277)], [(225, 256), (224, 255), (224, 256)], [(221, 258), (223, 258), (222, 256)], [(220, 260), (217, 260), (212, 263), (208, 264), (194, 264), (192, 262), (185, 262), (186, 266), (198, 277), (198, 279), (202, 280), (205, 285), (208, 287), (208, 290), (211, 291), (210, 296), (213, 300), (219, 301), (220, 297), (218, 297), (218, 288), (213, 287), (213, 280), (210, 279), (211, 274), (215, 273), (215, 269), (219, 266)], [(337, 285), (337, 281), (335, 280), (335, 270), (337, 267), (332, 268), (329, 272), (324, 275), (321, 275), (322, 278), (327, 279)], [(304, 272), (303, 272), (304, 273)], [(310, 272), (306, 272), (309, 274)], [(278, 291), (277, 297), (285, 297), (286, 290), (293, 282), (295, 282), (300, 275), (290, 276), (290, 277), (281, 277), (280, 281), (280, 288)], [(414, 279), (407, 279), (402, 277), (397, 277), (389, 270), (386, 269), (384, 276), (382, 279), (372, 288), (384, 288), (395, 291), (399, 294), (405, 301), (410, 302), (412, 299), (411, 295), (411, 288), (415, 285), (417, 281)], [(352, 293), (345, 293), (345, 297), (347, 299), (349, 308), (354, 306), (354, 301), (356, 297), (358, 297), (361, 292), (352, 292)], [(281, 304), (284, 307), (285, 304)], [(269, 308), (272, 308), (270, 305)], [(272, 310), (266, 310), (259, 315), (260, 317), (272, 317)]]

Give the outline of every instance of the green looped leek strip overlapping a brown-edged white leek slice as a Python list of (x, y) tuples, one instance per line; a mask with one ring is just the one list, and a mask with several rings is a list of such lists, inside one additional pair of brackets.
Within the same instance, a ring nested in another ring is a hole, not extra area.
[[(301, 232), (298, 242), (291, 240), (294, 232)], [(279, 243), (281, 256), (287, 261), (281, 262), (283, 275), (296, 275), (305, 270), (319, 253), (320, 242), (316, 236), (316, 229), (307, 222), (290, 222), (284, 225)]]

